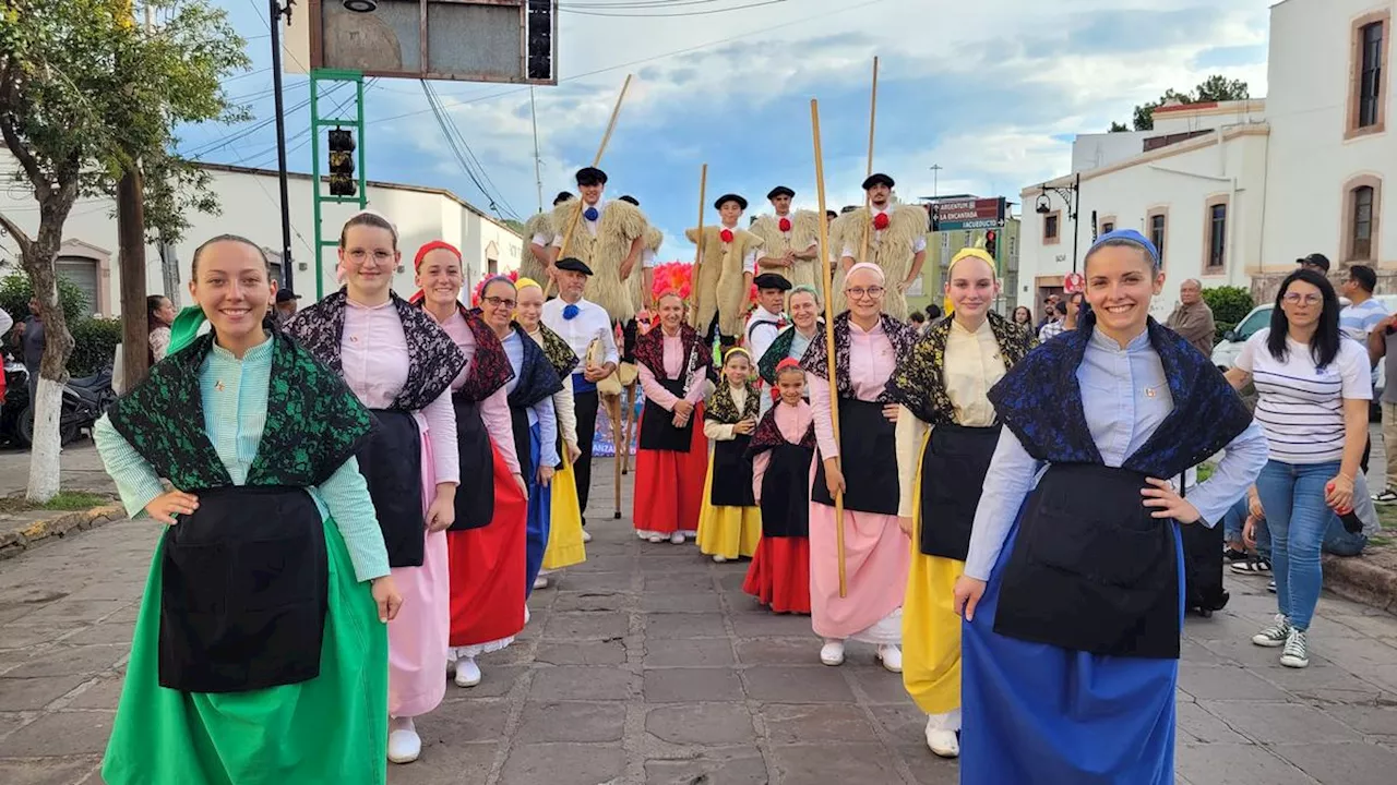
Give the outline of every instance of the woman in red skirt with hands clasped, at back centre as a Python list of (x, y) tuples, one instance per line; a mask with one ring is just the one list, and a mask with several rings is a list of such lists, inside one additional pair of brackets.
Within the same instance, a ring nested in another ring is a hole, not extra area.
[(712, 362), (698, 332), (685, 324), (685, 302), (659, 296), (659, 328), (636, 341), (645, 408), (636, 451), (636, 536), (683, 543), (698, 535), (698, 508), (708, 472), (703, 420), (705, 372)]

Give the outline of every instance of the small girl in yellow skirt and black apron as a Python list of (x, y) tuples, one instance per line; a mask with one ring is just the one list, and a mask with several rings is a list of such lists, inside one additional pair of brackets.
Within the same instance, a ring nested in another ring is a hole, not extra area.
[(747, 455), (760, 406), (761, 394), (752, 383), (752, 355), (733, 346), (722, 358), (722, 379), (703, 415), (712, 454), (698, 513), (698, 550), (718, 563), (750, 559), (761, 541), (761, 508), (752, 493)]

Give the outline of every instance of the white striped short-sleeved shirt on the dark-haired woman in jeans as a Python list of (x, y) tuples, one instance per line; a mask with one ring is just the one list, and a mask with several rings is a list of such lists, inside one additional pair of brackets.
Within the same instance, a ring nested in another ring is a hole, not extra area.
[(1354, 341), (1340, 341), (1338, 356), (1316, 367), (1309, 346), (1287, 338), (1284, 360), (1266, 348), (1270, 328), (1242, 346), (1236, 367), (1252, 374), (1259, 399), (1256, 420), (1266, 432), (1271, 460), (1323, 464), (1344, 457), (1344, 401), (1373, 397), (1368, 353)]

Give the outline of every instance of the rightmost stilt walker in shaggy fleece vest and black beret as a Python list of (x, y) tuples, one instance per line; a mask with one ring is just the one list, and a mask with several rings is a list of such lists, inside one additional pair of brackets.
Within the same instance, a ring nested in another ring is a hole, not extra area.
[(894, 203), (893, 186), (893, 177), (870, 175), (863, 180), (869, 207), (855, 210), (842, 225), (840, 274), (834, 281), (835, 311), (844, 307), (844, 272), (861, 261), (872, 261), (883, 268), (888, 284), (883, 311), (904, 320), (908, 316), (905, 292), (922, 274), (930, 218), (915, 204)]

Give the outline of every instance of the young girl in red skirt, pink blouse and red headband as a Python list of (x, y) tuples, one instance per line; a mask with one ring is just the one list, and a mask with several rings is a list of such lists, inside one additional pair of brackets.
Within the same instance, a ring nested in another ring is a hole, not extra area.
[(777, 613), (810, 612), (810, 461), (814, 412), (805, 401), (805, 372), (793, 359), (777, 366), (781, 402), (761, 418), (747, 454), (761, 508), (761, 542), (742, 591)]

